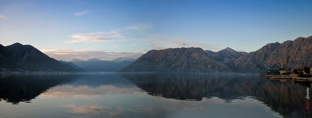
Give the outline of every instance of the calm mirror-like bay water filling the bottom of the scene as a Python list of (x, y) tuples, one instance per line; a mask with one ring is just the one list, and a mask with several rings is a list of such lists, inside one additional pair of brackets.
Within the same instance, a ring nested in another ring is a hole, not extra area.
[(260, 76), (1, 73), (0, 117), (312, 117), (307, 87)]

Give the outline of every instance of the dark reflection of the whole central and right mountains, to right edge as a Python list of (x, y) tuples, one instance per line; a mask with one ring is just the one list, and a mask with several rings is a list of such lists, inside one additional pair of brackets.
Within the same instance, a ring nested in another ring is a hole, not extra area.
[(254, 96), (284, 117), (311, 117), (305, 109), (306, 88), (310, 88), (310, 83), (236, 75), (139, 73), (122, 76), (152, 96), (196, 101), (218, 97), (224, 102)]

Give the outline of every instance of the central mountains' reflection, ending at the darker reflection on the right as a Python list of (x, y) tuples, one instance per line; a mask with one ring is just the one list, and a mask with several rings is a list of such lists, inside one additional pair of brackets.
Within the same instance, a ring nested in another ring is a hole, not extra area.
[(229, 78), (225, 75), (141, 73), (122, 76), (150, 95), (179, 100), (201, 101), (203, 97), (220, 97), (230, 101), (247, 96), (250, 89), (246, 86), (249, 78)]

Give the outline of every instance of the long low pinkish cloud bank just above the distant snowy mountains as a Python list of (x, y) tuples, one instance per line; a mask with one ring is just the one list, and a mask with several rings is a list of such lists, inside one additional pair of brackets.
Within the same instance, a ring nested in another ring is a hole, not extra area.
[(68, 49), (51, 49), (51, 50), (40, 50), (44, 54), (57, 60), (72, 60), (72, 59), (92, 59), (97, 58), (101, 60), (114, 60), (119, 57), (126, 58), (138, 58), (142, 53), (136, 52), (105, 52), (103, 50), (68, 50)]

